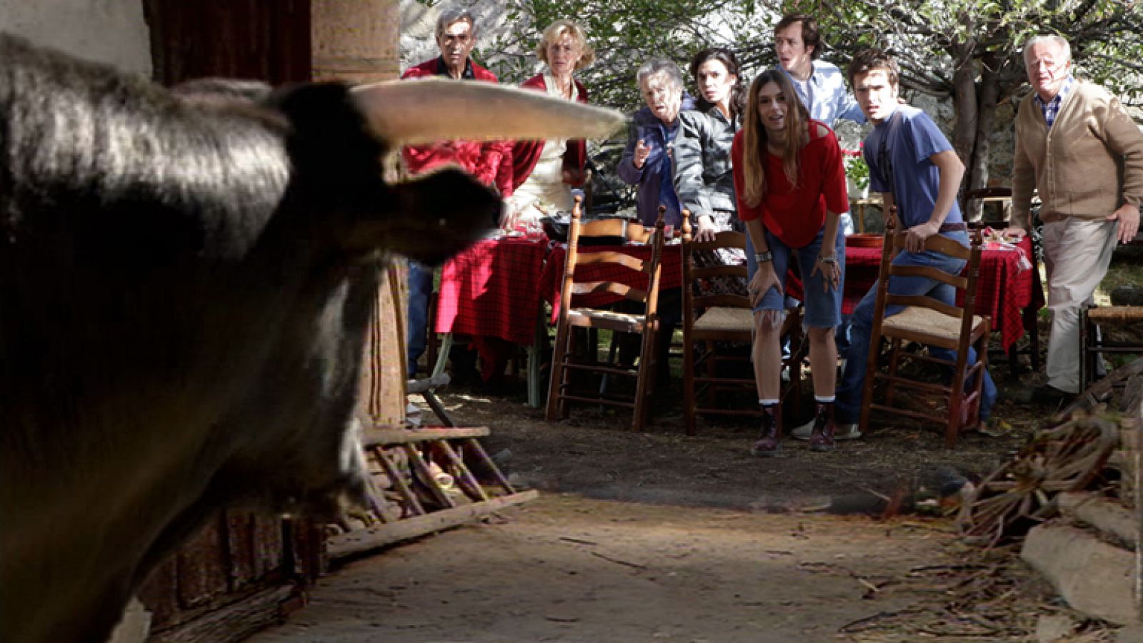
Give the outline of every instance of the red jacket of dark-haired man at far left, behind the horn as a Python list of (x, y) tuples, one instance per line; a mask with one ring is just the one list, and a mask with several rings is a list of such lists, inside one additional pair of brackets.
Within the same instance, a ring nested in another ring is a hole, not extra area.
[[(496, 74), (469, 61), (474, 80), (496, 82)], [(440, 58), (425, 61), (405, 70), (401, 78), (439, 75)], [(401, 150), (409, 174), (418, 175), (445, 163), (454, 163), (485, 185), (496, 184), (502, 198), (512, 194), (512, 143), (507, 140), (441, 140), (430, 145), (410, 145)]]

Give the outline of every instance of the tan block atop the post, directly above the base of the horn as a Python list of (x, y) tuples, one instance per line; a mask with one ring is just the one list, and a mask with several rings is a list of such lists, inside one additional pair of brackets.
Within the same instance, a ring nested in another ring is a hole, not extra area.
[(398, 0), (312, 0), (313, 79), (375, 82), (400, 75)]

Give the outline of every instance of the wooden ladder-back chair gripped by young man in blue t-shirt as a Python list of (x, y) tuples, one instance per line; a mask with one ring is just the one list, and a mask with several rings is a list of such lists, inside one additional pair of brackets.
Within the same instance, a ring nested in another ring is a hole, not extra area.
[[(873, 409), (887, 411), (914, 419), (933, 421), (937, 419), (945, 425), (944, 445), (952, 448), (957, 436), (965, 431), (980, 425), (981, 395), (984, 384), (984, 372), (988, 369), (988, 340), (991, 320), (974, 315), (976, 307), (976, 283), (981, 264), (981, 236), (973, 235), (972, 248), (965, 248), (956, 241), (934, 234), (925, 241), (927, 250), (935, 250), (952, 257), (968, 260), (968, 276), (950, 275), (933, 267), (894, 266), (893, 257), (905, 244), (905, 233), (894, 234), (886, 230), (885, 244), (881, 251), (881, 270), (877, 286), (877, 300), (873, 308), (873, 330), (870, 336), (869, 364), (865, 371), (865, 388), (862, 395), (861, 431), (869, 427), (869, 415)], [(927, 296), (901, 296), (889, 294), (889, 278), (925, 276), (948, 283), (964, 295), (961, 306), (950, 306)], [(885, 316), (886, 306), (908, 306), (901, 313)], [(888, 371), (882, 373), (878, 365), (881, 353), (881, 339), (889, 340)], [(917, 341), (926, 346), (940, 346), (954, 351), (954, 362), (934, 357), (927, 353), (905, 355), (902, 343)], [(968, 348), (975, 346), (976, 362), (968, 363)], [(902, 357), (911, 357), (922, 362), (951, 367), (953, 377), (950, 385), (917, 381), (897, 375)], [(972, 391), (965, 392), (966, 383), (975, 377)], [(873, 402), (873, 387), (878, 381), (887, 384), (885, 403)], [(944, 401), (943, 420), (934, 412), (918, 412), (894, 407), (896, 387), (909, 388), (921, 395), (937, 396)]]

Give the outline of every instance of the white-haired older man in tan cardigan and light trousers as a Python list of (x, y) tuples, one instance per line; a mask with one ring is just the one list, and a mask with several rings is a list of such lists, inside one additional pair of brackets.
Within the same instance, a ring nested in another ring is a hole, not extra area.
[(1016, 116), (1013, 220), (1031, 230), (1032, 191), (1040, 194), (1048, 274), (1046, 385), (1032, 400), (1060, 403), (1079, 392), (1079, 312), (1103, 281), (1116, 243), (1138, 231), (1143, 203), (1143, 134), (1119, 99), (1071, 74), (1071, 47), (1057, 35), (1024, 45), (1030, 94)]

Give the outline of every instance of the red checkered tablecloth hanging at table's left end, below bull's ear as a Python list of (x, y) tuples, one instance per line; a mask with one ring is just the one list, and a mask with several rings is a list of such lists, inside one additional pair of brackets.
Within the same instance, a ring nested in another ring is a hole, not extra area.
[(530, 345), (546, 255), (546, 239), (501, 239), (449, 259), (441, 270), (434, 330)]

